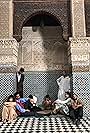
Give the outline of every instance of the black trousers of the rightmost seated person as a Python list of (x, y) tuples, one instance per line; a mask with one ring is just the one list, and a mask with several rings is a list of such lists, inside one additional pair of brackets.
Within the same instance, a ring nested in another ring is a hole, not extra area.
[(77, 109), (70, 107), (69, 116), (72, 120), (80, 120), (83, 117), (83, 107), (78, 107)]

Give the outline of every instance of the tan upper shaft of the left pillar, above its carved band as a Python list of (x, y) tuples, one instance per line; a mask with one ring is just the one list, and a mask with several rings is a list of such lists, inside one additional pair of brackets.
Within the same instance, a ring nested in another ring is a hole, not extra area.
[(13, 0), (0, 0), (0, 38), (13, 36)]

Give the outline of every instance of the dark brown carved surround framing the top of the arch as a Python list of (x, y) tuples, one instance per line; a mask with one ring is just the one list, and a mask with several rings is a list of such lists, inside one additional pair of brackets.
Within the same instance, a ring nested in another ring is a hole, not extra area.
[(22, 27), (32, 16), (43, 12), (54, 16), (62, 26), (63, 37), (70, 35), (70, 1), (14, 1), (14, 32), (13, 36), (20, 41)]

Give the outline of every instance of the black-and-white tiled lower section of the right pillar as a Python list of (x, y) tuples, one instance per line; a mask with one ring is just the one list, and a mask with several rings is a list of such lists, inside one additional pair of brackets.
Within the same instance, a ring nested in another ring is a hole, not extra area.
[(90, 73), (73, 73), (73, 91), (84, 103), (84, 115), (90, 116)]

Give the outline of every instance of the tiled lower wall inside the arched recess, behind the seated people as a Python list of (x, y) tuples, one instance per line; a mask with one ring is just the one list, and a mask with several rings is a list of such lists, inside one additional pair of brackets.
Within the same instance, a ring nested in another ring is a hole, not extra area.
[(30, 94), (38, 97), (38, 104), (46, 94), (55, 100), (58, 93), (57, 78), (61, 75), (61, 71), (47, 71), (47, 72), (26, 72), (24, 81), (24, 97)]

